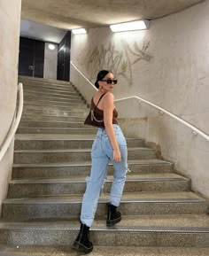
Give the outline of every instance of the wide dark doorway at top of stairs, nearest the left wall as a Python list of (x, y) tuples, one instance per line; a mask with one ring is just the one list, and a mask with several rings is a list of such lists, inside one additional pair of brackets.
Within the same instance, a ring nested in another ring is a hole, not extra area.
[(19, 75), (43, 78), (44, 45), (42, 41), (19, 38)]

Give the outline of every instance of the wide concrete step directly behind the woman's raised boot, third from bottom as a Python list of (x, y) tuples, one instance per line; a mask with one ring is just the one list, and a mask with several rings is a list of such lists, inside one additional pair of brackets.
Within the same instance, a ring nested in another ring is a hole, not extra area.
[[(96, 216), (104, 216), (109, 194), (103, 194)], [(3, 202), (2, 217), (7, 220), (37, 218), (69, 218), (79, 216), (82, 195), (68, 194), (36, 198), (7, 198)], [(127, 192), (121, 198), (122, 215), (140, 214), (202, 214), (208, 204), (192, 192)]]

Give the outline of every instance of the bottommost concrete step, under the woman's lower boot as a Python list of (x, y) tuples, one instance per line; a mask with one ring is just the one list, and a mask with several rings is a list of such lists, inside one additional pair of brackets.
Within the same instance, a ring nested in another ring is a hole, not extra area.
[[(35, 244), (35, 243), (34, 243)], [(70, 244), (68, 246), (37, 246), (37, 245), (1, 245), (1, 256), (77, 256)], [(94, 245), (94, 256), (208, 256), (209, 248), (194, 247), (159, 247), (159, 246), (98, 246)]]

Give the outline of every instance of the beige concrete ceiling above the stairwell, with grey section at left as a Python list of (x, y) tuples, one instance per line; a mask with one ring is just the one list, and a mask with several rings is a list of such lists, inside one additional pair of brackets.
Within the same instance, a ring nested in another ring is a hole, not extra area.
[(22, 0), (20, 35), (60, 43), (66, 30), (106, 27), (136, 19), (159, 19), (204, 1)]

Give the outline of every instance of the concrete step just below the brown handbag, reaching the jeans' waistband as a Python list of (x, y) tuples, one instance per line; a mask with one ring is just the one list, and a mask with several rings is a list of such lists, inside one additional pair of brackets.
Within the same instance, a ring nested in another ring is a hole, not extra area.
[(96, 135), (95, 128), (18, 128), (17, 134), (67, 134), (67, 135)]

